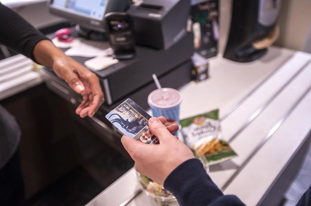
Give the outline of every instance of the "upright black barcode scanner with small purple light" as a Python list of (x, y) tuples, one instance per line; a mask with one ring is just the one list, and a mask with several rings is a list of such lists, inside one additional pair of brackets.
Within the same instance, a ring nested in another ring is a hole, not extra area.
[(110, 12), (104, 18), (108, 39), (114, 49), (113, 58), (134, 58), (135, 40), (131, 16), (127, 13)]

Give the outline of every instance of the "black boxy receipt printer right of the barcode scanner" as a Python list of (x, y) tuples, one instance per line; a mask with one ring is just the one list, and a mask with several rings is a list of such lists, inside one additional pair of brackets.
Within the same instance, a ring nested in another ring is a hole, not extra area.
[(137, 44), (168, 49), (186, 34), (190, 0), (143, 0), (129, 9)]

